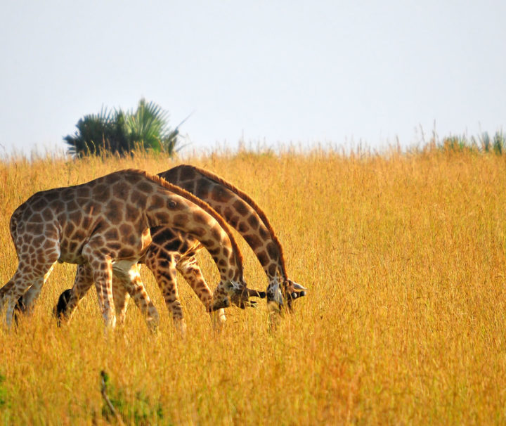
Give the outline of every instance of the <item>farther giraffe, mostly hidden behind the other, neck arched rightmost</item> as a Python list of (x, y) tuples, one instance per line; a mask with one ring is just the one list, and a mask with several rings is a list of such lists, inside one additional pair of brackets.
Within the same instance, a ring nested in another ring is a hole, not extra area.
[[(246, 240), (256, 254), (261, 266), (268, 277), (268, 301), (283, 306), (283, 295), (290, 306), (292, 299), (305, 295), (306, 288), (294, 283), (287, 277), (283, 247), (276, 237), (266, 214), (243, 191), (228, 183), (219, 176), (190, 166), (181, 164), (169, 169), (158, 176), (185, 188), (198, 198), (211, 205), (224, 219), (233, 226)], [(167, 308), (172, 312), (172, 318), (178, 328), (186, 328), (179, 302), (176, 286), (176, 269), (186, 278), (202, 304), (206, 306), (211, 297), (202, 272), (196, 262), (195, 252), (198, 244), (189, 235), (174, 232), (169, 228), (151, 229), (152, 245), (140, 262), (144, 262), (153, 272), (157, 283), (164, 295)], [(79, 283), (79, 271), (76, 283)], [(280, 283), (283, 288), (280, 289)], [(74, 284), (75, 285), (75, 284)], [(263, 297), (263, 293), (259, 293)], [(119, 318), (124, 317), (128, 303), (128, 293), (121, 286), (114, 287), (114, 300)], [(60, 297), (60, 314), (65, 309), (65, 299)], [(224, 314), (221, 316), (223, 321)]]

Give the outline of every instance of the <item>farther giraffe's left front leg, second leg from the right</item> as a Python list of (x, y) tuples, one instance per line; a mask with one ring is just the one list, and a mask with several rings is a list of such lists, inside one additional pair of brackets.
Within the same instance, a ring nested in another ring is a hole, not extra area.
[(179, 301), (179, 293), (176, 283), (176, 259), (169, 252), (150, 252), (146, 254), (145, 264), (155, 276), (167, 310), (172, 313), (172, 321), (179, 333), (186, 335), (186, 321), (183, 317), (183, 309)]

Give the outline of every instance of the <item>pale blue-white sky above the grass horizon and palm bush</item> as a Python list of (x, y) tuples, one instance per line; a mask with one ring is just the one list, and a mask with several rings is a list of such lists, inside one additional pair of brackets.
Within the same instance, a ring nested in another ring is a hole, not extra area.
[(0, 155), (141, 97), (197, 151), (506, 131), (506, 1), (0, 1)]

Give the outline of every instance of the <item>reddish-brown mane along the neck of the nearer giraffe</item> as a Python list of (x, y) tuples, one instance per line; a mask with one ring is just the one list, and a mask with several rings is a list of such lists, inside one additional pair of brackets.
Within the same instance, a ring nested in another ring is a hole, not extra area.
[(153, 182), (163, 186), (164, 188), (169, 189), (169, 191), (175, 193), (176, 195), (181, 195), (181, 197), (186, 198), (187, 200), (190, 200), (191, 202), (193, 202), (193, 204), (202, 208), (203, 210), (205, 210), (205, 212), (207, 212), (209, 215), (211, 215), (214, 218), (214, 220), (216, 220), (216, 222), (218, 222), (219, 226), (221, 226), (221, 228), (223, 228), (223, 231), (225, 231), (225, 233), (228, 235), (228, 239), (231, 241), (232, 248), (235, 252), (235, 260), (238, 263), (238, 268), (239, 268), (240, 273), (242, 275), (242, 273), (244, 272), (244, 269), (242, 266), (242, 263), (243, 263), (242, 253), (240, 252), (239, 245), (233, 236), (231, 228), (230, 228), (230, 226), (228, 226), (225, 219), (223, 219), (223, 217), (221, 217), (221, 215), (218, 212), (216, 212), (215, 209), (213, 209), (209, 204), (207, 204), (207, 202), (200, 200), (200, 198), (198, 198), (195, 195), (193, 195), (192, 193), (186, 191), (186, 189), (183, 189), (180, 186), (174, 185), (174, 183), (170, 183), (170, 182), (166, 181), (165, 179), (163, 179), (162, 177), (157, 176), (156, 174), (150, 174), (150, 173), (146, 172), (145, 170), (126, 169), (126, 170), (123, 170), (123, 172), (125, 172), (125, 173), (132, 172), (135, 174), (142, 174), (147, 179), (150, 179), (150, 181), (153, 181)]

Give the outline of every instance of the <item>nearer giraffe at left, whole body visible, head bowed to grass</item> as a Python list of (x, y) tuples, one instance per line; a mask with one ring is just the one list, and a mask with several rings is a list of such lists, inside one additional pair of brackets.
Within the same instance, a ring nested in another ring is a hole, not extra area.
[[(202, 200), (141, 170), (36, 193), (15, 210), (10, 226), (18, 269), (0, 290), (9, 326), (15, 302), (24, 295), (30, 309), (56, 262), (86, 266), (107, 327), (115, 326), (113, 271), (148, 321), (156, 323), (155, 306), (136, 282), (133, 267), (152, 241), (150, 228), (157, 226), (188, 232), (212, 255), (221, 280), (209, 310), (229, 306), (230, 300), (241, 307), (248, 303), (242, 255), (225, 221)], [(69, 318), (79, 297), (71, 297)]]

